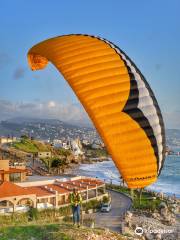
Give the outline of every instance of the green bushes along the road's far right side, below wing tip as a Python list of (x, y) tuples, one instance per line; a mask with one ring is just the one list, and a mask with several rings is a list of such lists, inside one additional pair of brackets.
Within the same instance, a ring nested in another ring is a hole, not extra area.
[[(131, 191), (127, 187), (107, 184), (107, 188), (127, 194), (128, 196), (131, 196)], [(134, 209), (142, 209), (142, 210), (150, 210), (150, 211), (154, 211), (155, 209), (158, 209), (161, 203), (160, 198), (156, 197), (153, 192), (146, 191), (146, 190), (142, 191), (141, 198), (140, 198), (139, 189), (136, 189), (133, 191), (132, 201), (133, 201)]]

